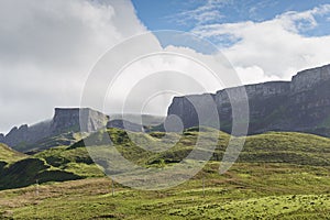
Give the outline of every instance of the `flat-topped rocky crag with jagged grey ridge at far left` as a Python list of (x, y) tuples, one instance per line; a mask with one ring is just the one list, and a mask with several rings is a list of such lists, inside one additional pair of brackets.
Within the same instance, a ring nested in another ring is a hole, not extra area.
[[(80, 120), (79, 120), (80, 117)], [(37, 141), (55, 136), (65, 132), (94, 132), (108, 122), (108, 117), (101, 112), (88, 108), (55, 109), (52, 120), (47, 120), (29, 127), (14, 127), (7, 135), (0, 135), (0, 142), (10, 145), (15, 150), (24, 148)], [(81, 128), (80, 128), (81, 125)]]

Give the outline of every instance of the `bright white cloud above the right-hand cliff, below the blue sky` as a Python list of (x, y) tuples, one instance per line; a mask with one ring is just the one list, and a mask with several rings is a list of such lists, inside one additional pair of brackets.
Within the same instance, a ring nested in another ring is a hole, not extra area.
[[(316, 16), (329, 13), (330, 4), (324, 4), (308, 11), (286, 12), (263, 22), (198, 25), (193, 32), (204, 37), (235, 40), (222, 47), (222, 53), (249, 82), (288, 80), (298, 70), (330, 63), (330, 36), (302, 34), (318, 25)], [(252, 69), (255, 77), (245, 77), (253, 75)]]

